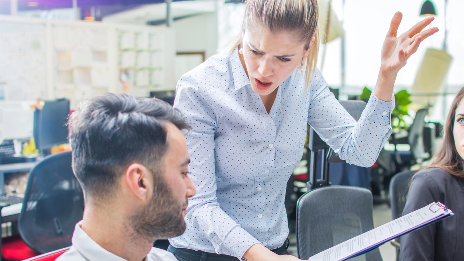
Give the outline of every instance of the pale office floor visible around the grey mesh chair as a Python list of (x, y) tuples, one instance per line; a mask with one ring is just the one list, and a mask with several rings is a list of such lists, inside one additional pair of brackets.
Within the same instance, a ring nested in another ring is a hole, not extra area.
[[(392, 220), (392, 211), (387, 204), (374, 205), (374, 227), (378, 227)], [(295, 233), (290, 233), (290, 246), (289, 252), (292, 255), (297, 256), (296, 252), (296, 237)], [(380, 254), (382, 255), (383, 261), (395, 261), (396, 260), (396, 249), (389, 243), (385, 243), (380, 246)]]

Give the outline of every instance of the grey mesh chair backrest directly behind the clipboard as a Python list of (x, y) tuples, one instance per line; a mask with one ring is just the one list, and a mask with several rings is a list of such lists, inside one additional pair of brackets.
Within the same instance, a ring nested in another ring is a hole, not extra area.
[[(368, 189), (328, 186), (313, 189), (296, 205), (296, 247), (308, 259), (374, 228), (372, 194)], [(350, 260), (381, 261), (378, 248)]]

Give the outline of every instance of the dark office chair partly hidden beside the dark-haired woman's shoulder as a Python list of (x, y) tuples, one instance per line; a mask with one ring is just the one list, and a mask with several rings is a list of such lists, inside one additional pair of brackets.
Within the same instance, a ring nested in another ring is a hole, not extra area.
[[(403, 214), (403, 209), (406, 203), (406, 195), (409, 189), (409, 180), (415, 170), (405, 170), (397, 173), (390, 181), (390, 205), (392, 207), (392, 220), (399, 218)], [(400, 258), (400, 238), (397, 237), (390, 241), (396, 248), (396, 260)]]

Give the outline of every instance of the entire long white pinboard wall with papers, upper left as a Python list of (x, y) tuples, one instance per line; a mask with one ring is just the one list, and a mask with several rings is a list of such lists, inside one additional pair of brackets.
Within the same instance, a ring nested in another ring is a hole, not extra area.
[(173, 90), (174, 30), (0, 15), (0, 100)]

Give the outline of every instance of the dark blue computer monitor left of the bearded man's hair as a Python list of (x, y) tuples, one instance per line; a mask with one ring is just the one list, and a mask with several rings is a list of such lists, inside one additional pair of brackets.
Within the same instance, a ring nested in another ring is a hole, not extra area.
[(68, 143), (68, 116), (68, 99), (45, 101), (42, 110), (35, 110), (33, 134), (39, 151)]

